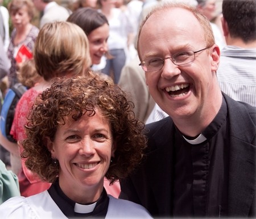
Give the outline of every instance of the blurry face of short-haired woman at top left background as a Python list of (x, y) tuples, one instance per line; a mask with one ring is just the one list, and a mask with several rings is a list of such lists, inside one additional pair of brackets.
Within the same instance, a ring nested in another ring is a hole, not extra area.
[(18, 11), (11, 11), (11, 22), (15, 28), (24, 27), (30, 23), (31, 17), (28, 14), (27, 6), (22, 6)]

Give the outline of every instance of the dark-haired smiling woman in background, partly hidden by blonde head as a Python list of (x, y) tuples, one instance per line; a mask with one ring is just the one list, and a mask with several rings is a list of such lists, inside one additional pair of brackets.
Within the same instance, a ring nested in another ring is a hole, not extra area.
[(73, 12), (67, 21), (77, 24), (84, 30), (89, 40), (92, 69), (100, 71), (106, 65), (105, 55), (108, 56), (108, 19), (96, 9), (83, 7)]

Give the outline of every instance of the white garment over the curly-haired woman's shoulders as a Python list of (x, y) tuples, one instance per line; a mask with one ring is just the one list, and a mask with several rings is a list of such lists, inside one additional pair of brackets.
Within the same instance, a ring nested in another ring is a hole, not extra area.
[[(48, 191), (30, 197), (13, 197), (0, 205), (1, 219), (67, 218), (52, 200)], [(109, 195), (107, 218), (152, 218), (147, 210), (131, 201)]]

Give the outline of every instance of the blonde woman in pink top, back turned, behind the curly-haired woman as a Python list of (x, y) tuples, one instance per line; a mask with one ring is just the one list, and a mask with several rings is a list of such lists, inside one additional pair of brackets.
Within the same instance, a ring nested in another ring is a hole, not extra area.
[[(72, 77), (87, 73), (91, 64), (88, 39), (76, 24), (47, 23), (40, 29), (36, 39), (34, 61), (42, 81), (27, 90), (16, 106), (10, 134), (17, 141), (22, 141), (26, 137), (24, 125), (27, 123), (27, 114), (39, 93), (49, 88), (57, 77)], [(22, 196), (34, 195), (45, 191), (50, 186), (49, 183), (42, 182), (28, 171), (24, 160), (22, 160), (22, 170), (18, 177)]]

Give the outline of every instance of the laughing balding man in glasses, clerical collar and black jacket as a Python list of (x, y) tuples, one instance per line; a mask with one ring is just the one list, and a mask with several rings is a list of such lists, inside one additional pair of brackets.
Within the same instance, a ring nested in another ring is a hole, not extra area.
[(160, 6), (142, 23), (138, 54), (170, 117), (146, 126), (144, 161), (121, 181), (120, 197), (154, 217), (255, 217), (256, 108), (221, 93), (208, 19)]

